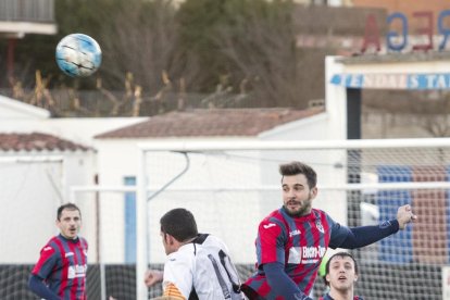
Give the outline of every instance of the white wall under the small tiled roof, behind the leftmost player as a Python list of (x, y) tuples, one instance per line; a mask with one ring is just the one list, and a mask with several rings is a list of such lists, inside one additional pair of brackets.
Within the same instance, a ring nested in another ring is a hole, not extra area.
[[(27, 162), (21, 162), (21, 158)], [(37, 261), (41, 247), (58, 234), (57, 209), (68, 200), (64, 189), (89, 183), (91, 159), (91, 152), (1, 155), (0, 263)], [(80, 209), (84, 216), (89, 214)], [(88, 232), (82, 233), (89, 236)]]

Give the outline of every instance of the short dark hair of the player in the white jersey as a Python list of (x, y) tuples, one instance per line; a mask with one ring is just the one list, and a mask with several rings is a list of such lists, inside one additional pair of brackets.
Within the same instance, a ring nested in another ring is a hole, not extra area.
[(173, 236), (178, 241), (185, 241), (196, 237), (196, 218), (186, 209), (174, 209), (166, 212), (160, 220), (161, 233)]

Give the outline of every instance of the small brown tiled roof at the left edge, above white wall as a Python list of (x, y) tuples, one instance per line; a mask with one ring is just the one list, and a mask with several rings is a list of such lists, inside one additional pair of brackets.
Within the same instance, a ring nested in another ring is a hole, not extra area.
[(0, 151), (87, 151), (88, 147), (41, 133), (1, 134)]

